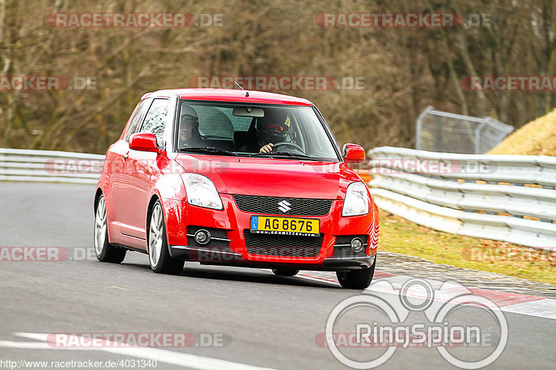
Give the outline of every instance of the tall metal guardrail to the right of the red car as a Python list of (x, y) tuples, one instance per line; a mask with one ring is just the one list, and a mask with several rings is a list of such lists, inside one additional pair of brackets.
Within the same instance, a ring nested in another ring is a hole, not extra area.
[(371, 192), (388, 212), (448, 233), (556, 246), (556, 158), (392, 146), (368, 156)]

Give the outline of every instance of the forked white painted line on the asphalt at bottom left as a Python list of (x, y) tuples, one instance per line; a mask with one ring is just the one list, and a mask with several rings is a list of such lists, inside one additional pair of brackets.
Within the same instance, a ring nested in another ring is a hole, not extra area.
[[(18, 337), (27, 339), (34, 339), (39, 342), (10, 342), (0, 341), (0, 347), (5, 348), (24, 348), (24, 349), (54, 349), (54, 350), (81, 350), (81, 351), (104, 351), (115, 353), (117, 355), (131, 356), (135, 358), (145, 358), (147, 360), (156, 360), (158, 362), (165, 362), (166, 364), (187, 367), (190, 369), (199, 370), (220, 370), (220, 369), (234, 369), (234, 370), (275, 370), (268, 367), (256, 367), (248, 364), (240, 364), (238, 362), (231, 362), (227, 360), (219, 360), (217, 358), (208, 358), (199, 355), (191, 355), (189, 353), (181, 353), (168, 351), (161, 348), (151, 347), (95, 347), (95, 348), (57, 348), (49, 346), (47, 343), (48, 334), (44, 333), (14, 333)], [(79, 340), (77, 341), (79, 342)]]

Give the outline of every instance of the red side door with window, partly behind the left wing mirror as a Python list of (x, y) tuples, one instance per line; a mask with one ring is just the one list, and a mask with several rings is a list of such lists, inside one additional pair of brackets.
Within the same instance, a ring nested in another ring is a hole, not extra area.
[[(163, 133), (169, 114), (170, 99), (153, 99), (145, 119), (137, 131), (154, 133), (158, 147), (163, 147)], [(157, 153), (129, 150), (129, 157), (124, 165), (126, 176), (130, 179), (124, 185), (122, 201), (125, 210), (124, 224), (126, 234), (142, 240), (147, 239), (147, 207), (153, 183), (160, 175), (156, 165)], [(140, 243), (143, 249), (146, 243)]]

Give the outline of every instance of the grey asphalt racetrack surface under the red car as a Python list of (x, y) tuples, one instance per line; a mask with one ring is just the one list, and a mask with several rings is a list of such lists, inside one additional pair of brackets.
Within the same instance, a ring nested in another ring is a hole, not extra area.
[[(129, 360), (123, 363), (128, 366), (118, 368), (133, 369), (139, 367), (133, 367), (131, 360), (141, 358), (156, 359), (156, 369), (347, 368), (329, 348), (318, 345), (318, 336), (325, 332), (334, 307), (361, 292), (302, 277), (279, 278), (268, 270), (197, 263), (186, 263), (181, 276), (164, 276), (150, 271), (147, 255), (140, 253), (128, 253), (122, 264), (98, 262), (90, 258), (94, 190), (90, 185), (0, 183), (0, 247), (57, 246), (69, 255), (60, 262), (0, 258), (0, 369), (22, 368), (22, 360), (103, 364)], [(380, 264), (377, 271), (388, 272)], [(366, 294), (390, 299), (389, 294), (373, 289)], [(507, 345), (489, 367), (554, 369), (556, 322), (504, 315)], [(501, 335), (484, 310), (464, 307), (454, 317), (461, 325), (493, 333), (495, 342)], [(384, 319), (376, 310), (356, 308), (338, 319), (338, 328), (349, 332), (354, 323), (384, 323)], [(425, 321), (423, 312), (411, 312), (404, 322)], [(67, 349), (47, 344), (49, 333), (191, 333), (197, 346)], [(200, 342), (199, 335), (217, 345), (202, 345), (208, 342)], [(488, 351), (460, 347), (452, 353), (477, 360)], [(372, 357), (365, 348), (343, 353), (359, 360)], [(455, 368), (436, 348), (398, 348), (381, 366), (400, 367)]]

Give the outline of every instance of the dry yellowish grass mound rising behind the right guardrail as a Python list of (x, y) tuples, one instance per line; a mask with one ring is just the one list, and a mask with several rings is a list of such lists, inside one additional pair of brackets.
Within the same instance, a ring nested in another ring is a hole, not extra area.
[(487, 154), (556, 155), (556, 109), (512, 133)]

